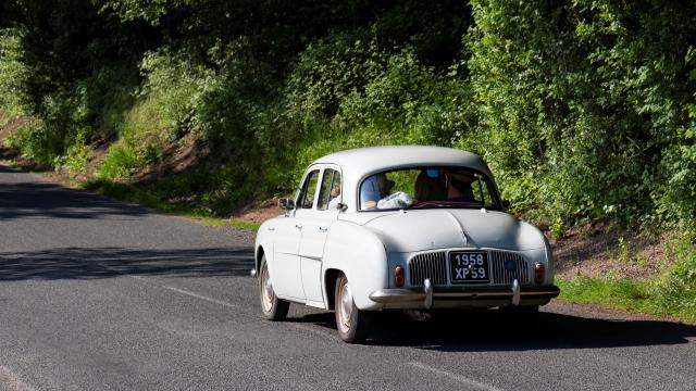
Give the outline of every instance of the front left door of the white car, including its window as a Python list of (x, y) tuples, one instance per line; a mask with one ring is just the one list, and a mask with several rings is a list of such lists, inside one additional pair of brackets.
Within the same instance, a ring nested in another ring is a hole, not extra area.
[(306, 300), (299, 257), (300, 239), (304, 226), (304, 216), (301, 211), (311, 210), (314, 205), (320, 172), (314, 167), (308, 171), (296, 198), (295, 210), (274, 227), (276, 240), (273, 247), (271, 283), (274, 291), (282, 298)]

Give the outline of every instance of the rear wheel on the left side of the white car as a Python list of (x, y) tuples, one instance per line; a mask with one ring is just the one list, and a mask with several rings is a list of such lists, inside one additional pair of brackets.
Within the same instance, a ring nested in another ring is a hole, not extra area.
[(360, 343), (368, 337), (370, 314), (360, 311), (352, 299), (352, 290), (348, 278), (341, 275), (336, 280), (336, 328), (341, 340), (348, 343)]

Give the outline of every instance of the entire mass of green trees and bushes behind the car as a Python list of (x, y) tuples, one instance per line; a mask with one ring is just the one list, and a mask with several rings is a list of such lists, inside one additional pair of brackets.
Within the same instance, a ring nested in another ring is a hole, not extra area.
[(0, 106), (40, 118), (10, 143), (103, 180), (190, 137), (209, 153), (161, 195), (221, 212), (291, 190), (321, 154), (422, 143), (482, 154), (555, 237), (595, 218), (687, 231), (696, 11), (682, 5), (12, 0)]

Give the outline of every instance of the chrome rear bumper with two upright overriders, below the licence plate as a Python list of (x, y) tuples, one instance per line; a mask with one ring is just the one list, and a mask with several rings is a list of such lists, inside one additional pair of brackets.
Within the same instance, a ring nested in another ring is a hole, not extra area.
[(521, 287), (517, 279), (509, 287), (438, 287), (434, 290), (426, 278), (423, 288), (380, 289), (370, 293), (370, 300), (394, 308), (543, 305), (559, 293), (556, 286)]

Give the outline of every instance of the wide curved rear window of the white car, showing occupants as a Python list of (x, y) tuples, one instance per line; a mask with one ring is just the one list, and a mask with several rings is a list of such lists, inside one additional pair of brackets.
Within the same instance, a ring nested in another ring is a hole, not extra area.
[(486, 207), (500, 210), (490, 180), (462, 167), (415, 167), (377, 173), (360, 186), (360, 210)]

